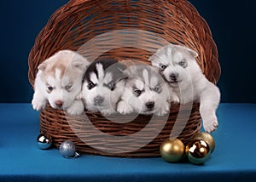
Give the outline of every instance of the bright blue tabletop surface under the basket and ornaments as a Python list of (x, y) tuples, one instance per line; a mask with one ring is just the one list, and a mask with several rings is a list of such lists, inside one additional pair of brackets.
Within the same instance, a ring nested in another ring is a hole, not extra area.
[(0, 181), (254, 181), (256, 104), (221, 104), (216, 149), (204, 165), (160, 157), (83, 155), (67, 159), (37, 146), (39, 112), (30, 104), (0, 104)]

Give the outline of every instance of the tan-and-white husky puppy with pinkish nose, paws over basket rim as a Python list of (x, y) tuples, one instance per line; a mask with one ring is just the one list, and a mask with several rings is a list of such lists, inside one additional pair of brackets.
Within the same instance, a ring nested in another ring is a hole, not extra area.
[(38, 65), (32, 107), (44, 109), (49, 105), (67, 110), (71, 115), (84, 111), (82, 100), (76, 100), (82, 88), (84, 71), (89, 62), (71, 50), (61, 50)]

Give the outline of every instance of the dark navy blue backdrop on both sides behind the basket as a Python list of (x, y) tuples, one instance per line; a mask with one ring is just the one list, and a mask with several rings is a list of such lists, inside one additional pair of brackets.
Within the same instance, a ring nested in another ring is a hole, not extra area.
[[(38, 32), (67, 0), (1, 2), (0, 102), (30, 102), (27, 57)], [(190, 0), (207, 20), (217, 43), (222, 102), (256, 103), (256, 1)]]

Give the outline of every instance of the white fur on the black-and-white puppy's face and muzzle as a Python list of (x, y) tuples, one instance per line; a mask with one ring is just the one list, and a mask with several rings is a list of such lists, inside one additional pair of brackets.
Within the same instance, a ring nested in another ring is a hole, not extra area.
[[(103, 61), (103, 60), (102, 60)], [(118, 69), (119, 65), (112, 65), (113, 69)], [(113, 73), (111, 71), (104, 70), (101, 63), (97, 63), (96, 72), (90, 72), (90, 81), (84, 80), (82, 88), (82, 99), (84, 105), (88, 111), (97, 112), (100, 111), (103, 115), (112, 115), (116, 113), (116, 105), (123, 92), (125, 80), (124, 77), (119, 77), (119, 80), (113, 81)], [(116, 68), (114, 68), (116, 66)], [(93, 82), (96, 86), (89, 89), (90, 82)], [(111, 90), (108, 85), (110, 82), (115, 83), (115, 88)], [(101, 97), (102, 103), (96, 104), (96, 98)]]

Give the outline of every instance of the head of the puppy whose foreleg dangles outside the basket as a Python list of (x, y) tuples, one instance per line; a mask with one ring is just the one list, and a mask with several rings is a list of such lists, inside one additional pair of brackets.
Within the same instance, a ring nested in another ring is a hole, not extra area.
[(198, 54), (189, 48), (169, 44), (160, 48), (149, 60), (160, 74), (171, 84), (190, 79), (193, 72), (199, 71), (195, 58)]

